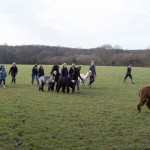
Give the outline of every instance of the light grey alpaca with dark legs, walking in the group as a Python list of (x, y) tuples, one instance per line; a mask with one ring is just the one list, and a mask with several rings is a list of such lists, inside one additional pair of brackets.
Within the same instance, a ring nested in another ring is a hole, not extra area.
[(48, 85), (48, 91), (50, 90), (52, 83), (55, 82), (56, 73), (57, 72), (54, 71), (52, 73), (52, 75), (50, 75), (50, 76), (42, 76), (39, 78), (39, 91), (40, 90), (44, 91), (44, 89), (43, 89), (44, 84), (47, 84)]

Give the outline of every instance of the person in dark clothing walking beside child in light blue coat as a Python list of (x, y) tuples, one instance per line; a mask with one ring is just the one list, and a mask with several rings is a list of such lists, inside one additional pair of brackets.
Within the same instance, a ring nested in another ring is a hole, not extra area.
[(14, 62), (9, 70), (9, 75), (11, 74), (11, 76), (12, 76), (11, 84), (13, 84), (13, 82), (14, 82), (14, 85), (16, 84), (17, 73), (18, 73), (18, 68), (16, 66), (16, 63)]

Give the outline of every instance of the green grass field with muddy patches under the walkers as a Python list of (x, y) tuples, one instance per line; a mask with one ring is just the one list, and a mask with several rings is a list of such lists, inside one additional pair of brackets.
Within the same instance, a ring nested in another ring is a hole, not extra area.
[[(10, 65), (5, 66), (7, 72)], [(150, 111), (137, 113), (138, 90), (150, 69), (133, 67), (135, 84), (123, 83), (126, 67), (98, 67), (92, 88), (39, 92), (30, 65), (18, 65), (16, 87), (0, 87), (1, 150), (150, 150)], [(51, 66), (44, 66), (49, 74)], [(82, 67), (86, 72), (88, 66)]]

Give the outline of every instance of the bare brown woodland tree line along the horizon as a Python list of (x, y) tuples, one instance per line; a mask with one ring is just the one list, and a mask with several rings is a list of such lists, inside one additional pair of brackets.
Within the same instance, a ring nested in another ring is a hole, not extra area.
[(94, 60), (102, 66), (150, 66), (150, 50), (123, 50), (109, 44), (91, 48), (68, 48), (44, 45), (0, 45), (0, 63), (11, 64), (82, 64), (89, 65)]

